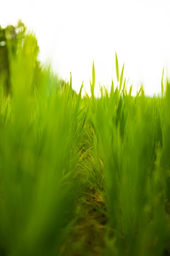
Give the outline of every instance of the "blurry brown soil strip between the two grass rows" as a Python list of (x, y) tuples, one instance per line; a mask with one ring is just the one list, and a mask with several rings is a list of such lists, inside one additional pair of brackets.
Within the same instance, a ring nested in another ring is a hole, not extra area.
[(62, 256), (102, 256), (106, 216), (102, 196), (92, 188), (77, 202), (77, 221), (61, 247)]

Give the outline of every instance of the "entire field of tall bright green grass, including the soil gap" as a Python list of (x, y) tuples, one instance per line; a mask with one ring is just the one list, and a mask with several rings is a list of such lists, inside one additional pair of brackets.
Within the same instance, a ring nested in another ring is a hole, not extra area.
[(23, 50), (0, 82), (0, 256), (170, 255), (169, 81), (132, 97), (116, 56), (110, 92), (93, 64), (82, 98), (47, 68), (33, 84)]

